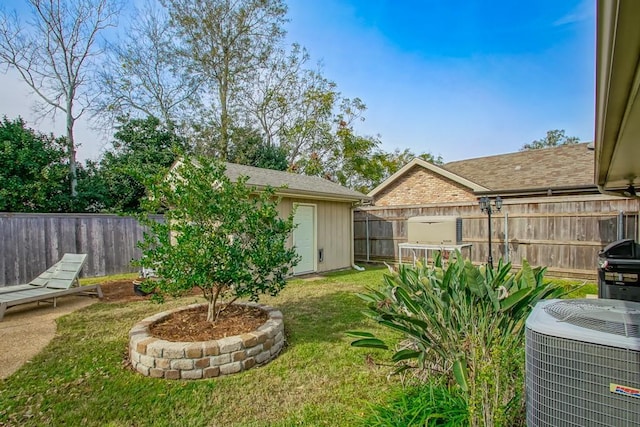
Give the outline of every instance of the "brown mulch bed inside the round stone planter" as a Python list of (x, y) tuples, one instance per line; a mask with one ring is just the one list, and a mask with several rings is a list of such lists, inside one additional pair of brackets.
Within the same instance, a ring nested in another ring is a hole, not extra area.
[(212, 324), (207, 322), (205, 305), (172, 313), (149, 329), (151, 335), (167, 341), (209, 341), (255, 331), (267, 318), (267, 313), (260, 309), (230, 305)]

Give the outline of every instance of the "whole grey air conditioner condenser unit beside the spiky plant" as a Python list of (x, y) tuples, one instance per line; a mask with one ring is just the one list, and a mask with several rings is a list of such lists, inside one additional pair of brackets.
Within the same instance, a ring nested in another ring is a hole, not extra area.
[(541, 301), (525, 333), (527, 426), (640, 425), (640, 303)]

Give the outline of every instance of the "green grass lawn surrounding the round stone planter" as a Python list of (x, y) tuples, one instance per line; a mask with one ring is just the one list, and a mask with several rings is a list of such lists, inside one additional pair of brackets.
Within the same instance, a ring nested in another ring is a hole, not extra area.
[[(366, 362), (347, 330), (382, 337), (354, 292), (380, 283), (383, 269), (294, 280), (262, 302), (284, 314), (287, 347), (264, 367), (212, 380), (170, 381), (129, 370), (129, 328), (167, 308), (147, 301), (97, 303), (58, 320), (54, 340), (0, 381), (0, 426), (359, 425), (370, 403), (399, 387), (390, 368)], [(375, 353), (377, 360), (389, 355)]]

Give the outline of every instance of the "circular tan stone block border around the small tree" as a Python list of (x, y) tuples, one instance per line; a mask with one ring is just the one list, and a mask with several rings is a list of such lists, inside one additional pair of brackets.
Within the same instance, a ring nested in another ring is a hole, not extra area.
[(172, 342), (151, 336), (149, 328), (174, 312), (200, 307), (192, 304), (164, 311), (136, 323), (129, 331), (129, 358), (133, 368), (148, 377), (197, 380), (235, 374), (273, 360), (284, 346), (282, 313), (269, 306), (243, 303), (268, 315), (257, 330), (200, 342)]

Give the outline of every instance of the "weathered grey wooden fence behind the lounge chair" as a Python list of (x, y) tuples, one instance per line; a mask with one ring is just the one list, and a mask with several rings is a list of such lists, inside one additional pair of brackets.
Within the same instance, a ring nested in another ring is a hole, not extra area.
[(118, 215), (0, 213), (0, 286), (30, 281), (66, 252), (88, 255), (82, 277), (135, 272), (142, 235)]

